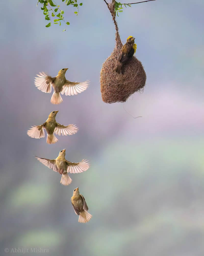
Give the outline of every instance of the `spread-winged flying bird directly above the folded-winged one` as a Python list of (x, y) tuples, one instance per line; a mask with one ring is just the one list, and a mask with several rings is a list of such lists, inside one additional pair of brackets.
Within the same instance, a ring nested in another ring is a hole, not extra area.
[(60, 183), (65, 186), (69, 185), (72, 182), (72, 179), (67, 174), (68, 172), (82, 173), (88, 170), (90, 166), (89, 163), (87, 163), (88, 161), (85, 159), (83, 159), (79, 163), (71, 163), (67, 161), (65, 159), (65, 149), (59, 152), (59, 155), (56, 159), (51, 160), (51, 159), (41, 158), (37, 156), (36, 158), (48, 168), (53, 169), (54, 172), (58, 172), (59, 174), (61, 174), (62, 178), (60, 180)]

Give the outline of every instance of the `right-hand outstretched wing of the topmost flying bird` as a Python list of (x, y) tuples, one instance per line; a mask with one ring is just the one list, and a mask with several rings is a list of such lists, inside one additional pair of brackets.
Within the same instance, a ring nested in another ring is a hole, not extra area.
[(85, 82), (70, 82), (66, 80), (65, 84), (62, 87), (61, 94), (65, 95), (77, 95), (78, 93), (81, 93), (85, 91), (88, 88), (89, 80)]

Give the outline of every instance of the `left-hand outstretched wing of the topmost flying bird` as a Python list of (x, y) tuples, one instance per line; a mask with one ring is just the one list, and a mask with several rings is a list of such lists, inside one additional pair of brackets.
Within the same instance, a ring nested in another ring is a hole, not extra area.
[(34, 84), (37, 89), (45, 93), (50, 93), (52, 90), (52, 84), (55, 80), (55, 77), (47, 76), (44, 72), (39, 72), (40, 74), (35, 77)]

